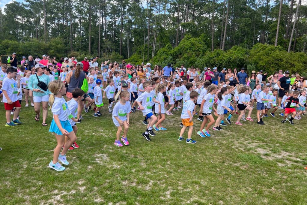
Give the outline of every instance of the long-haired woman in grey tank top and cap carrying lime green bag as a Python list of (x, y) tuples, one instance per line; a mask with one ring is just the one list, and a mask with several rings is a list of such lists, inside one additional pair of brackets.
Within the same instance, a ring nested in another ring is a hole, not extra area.
[[(72, 99), (72, 91), (75, 88), (81, 88), (83, 85), (84, 78), (87, 78), (86, 73), (83, 71), (83, 63), (78, 62), (76, 65), (76, 69), (72, 72), (68, 73), (68, 77), (66, 79), (66, 83), (69, 84), (66, 92), (67, 101)], [(78, 113), (77, 119), (80, 120), (80, 115), (83, 109), (83, 102), (78, 102)]]

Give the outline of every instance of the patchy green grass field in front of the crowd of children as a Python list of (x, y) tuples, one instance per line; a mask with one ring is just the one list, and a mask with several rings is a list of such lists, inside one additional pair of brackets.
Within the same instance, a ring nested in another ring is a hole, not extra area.
[[(177, 141), (181, 112), (166, 116), (168, 130), (148, 142), (137, 111), (130, 145), (119, 148), (105, 106), (100, 118), (83, 114), (80, 148), (68, 151), (71, 164), (56, 172), (48, 168), (55, 137), (22, 106), (24, 124), (10, 128), (0, 104), (0, 204), (307, 204), (307, 116), (294, 126), (279, 115), (265, 118), (265, 126), (233, 123), (210, 138), (197, 136), (194, 117), (197, 143), (187, 144)], [(48, 125), (51, 119), (49, 111)]]

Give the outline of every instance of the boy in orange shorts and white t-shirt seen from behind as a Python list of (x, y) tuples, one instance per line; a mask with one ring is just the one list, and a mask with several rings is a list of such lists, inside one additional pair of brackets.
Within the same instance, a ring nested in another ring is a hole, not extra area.
[(190, 100), (184, 102), (182, 112), (181, 112), (181, 121), (183, 124), (183, 127), (181, 128), (180, 131), (180, 136), (178, 138), (178, 141), (183, 141), (185, 140), (182, 135), (185, 132), (185, 128), (189, 127), (188, 131), (188, 138), (186, 140), (186, 143), (189, 144), (195, 144), (196, 141), (192, 140), (192, 131), (193, 131), (193, 115), (196, 113), (194, 111), (195, 103), (198, 98), (198, 93), (196, 91), (191, 91), (190, 93)]

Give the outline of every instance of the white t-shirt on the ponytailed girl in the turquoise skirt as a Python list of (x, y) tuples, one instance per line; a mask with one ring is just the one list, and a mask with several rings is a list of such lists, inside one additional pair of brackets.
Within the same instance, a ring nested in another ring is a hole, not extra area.
[(59, 115), (59, 120), (61, 121), (66, 121), (71, 118), (71, 114), (64, 97), (54, 97), (51, 112), (53, 113), (53, 115)]

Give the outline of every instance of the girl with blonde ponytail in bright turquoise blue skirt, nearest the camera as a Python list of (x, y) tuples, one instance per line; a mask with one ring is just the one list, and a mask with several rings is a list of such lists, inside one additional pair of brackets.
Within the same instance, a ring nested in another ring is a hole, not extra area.
[[(54, 132), (57, 141), (56, 148), (54, 148), (53, 152), (53, 160), (51, 160), (49, 163), (49, 168), (56, 171), (64, 171), (65, 168), (59, 163), (58, 160), (60, 160), (62, 164), (69, 164), (66, 160), (66, 152), (77, 139), (76, 134), (73, 132), (72, 126), (69, 122), (69, 119), (71, 119), (73, 116), (69, 112), (67, 103), (63, 97), (63, 95), (66, 93), (64, 83), (62, 81), (52, 81), (48, 85), (48, 89), (51, 93), (49, 97), (49, 104), (53, 113), (53, 119), (50, 124), (49, 132)], [(68, 136), (69, 140), (66, 143), (67, 146), (65, 146), (61, 152), (61, 149), (65, 143), (65, 135)]]

